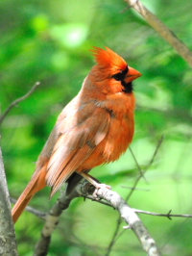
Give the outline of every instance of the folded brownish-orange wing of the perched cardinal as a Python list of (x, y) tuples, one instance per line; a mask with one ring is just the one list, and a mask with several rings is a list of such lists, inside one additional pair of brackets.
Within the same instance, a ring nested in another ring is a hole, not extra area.
[(47, 166), (46, 181), (51, 196), (84, 163), (109, 130), (109, 114), (94, 103), (84, 104), (73, 115), (59, 117), (59, 138)]

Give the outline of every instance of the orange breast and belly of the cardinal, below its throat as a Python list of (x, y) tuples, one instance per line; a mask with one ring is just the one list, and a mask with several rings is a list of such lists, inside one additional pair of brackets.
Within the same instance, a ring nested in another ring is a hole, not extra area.
[(134, 98), (132, 101), (126, 101), (124, 105), (122, 102), (120, 105), (108, 105), (106, 111), (109, 118), (108, 134), (95, 147), (94, 153), (84, 161), (81, 169), (89, 169), (117, 160), (132, 142)]

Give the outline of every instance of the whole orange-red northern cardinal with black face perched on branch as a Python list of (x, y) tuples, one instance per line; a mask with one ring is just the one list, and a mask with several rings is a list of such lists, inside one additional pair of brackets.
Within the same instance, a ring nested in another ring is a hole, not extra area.
[(52, 188), (53, 196), (64, 182), (68, 182), (68, 191), (74, 189), (83, 176), (100, 188), (87, 172), (117, 160), (132, 142), (132, 80), (141, 73), (108, 47), (94, 47), (91, 52), (96, 64), (82, 90), (60, 113), (38, 157), (36, 171), (12, 209), (14, 222), (45, 186)]

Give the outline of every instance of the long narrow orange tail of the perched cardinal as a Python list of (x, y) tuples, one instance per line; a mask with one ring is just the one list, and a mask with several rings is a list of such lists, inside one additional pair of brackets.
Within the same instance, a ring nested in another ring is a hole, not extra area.
[(14, 223), (20, 217), (35, 193), (39, 192), (46, 186), (45, 175), (46, 171), (44, 167), (35, 172), (28, 186), (24, 192), (21, 193), (20, 197), (12, 208), (12, 220)]

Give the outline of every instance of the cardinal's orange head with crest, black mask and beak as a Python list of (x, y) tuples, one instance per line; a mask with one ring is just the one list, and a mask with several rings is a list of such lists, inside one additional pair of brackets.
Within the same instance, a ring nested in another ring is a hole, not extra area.
[(96, 65), (93, 66), (91, 76), (97, 86), (105, 93), (124, 91), (132, 92), (132, 81), (142, 74), (129, 66), (118, 54), (106, 47), (106, 50), (94, 47), (93, 53)]

